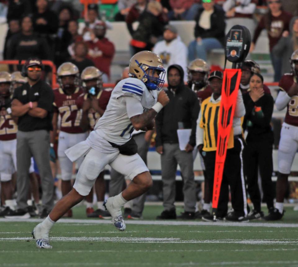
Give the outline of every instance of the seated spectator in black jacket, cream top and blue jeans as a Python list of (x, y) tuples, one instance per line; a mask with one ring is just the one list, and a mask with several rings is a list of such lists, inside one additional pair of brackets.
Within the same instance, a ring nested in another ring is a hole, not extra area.
[(214, 1), (202, 1), (203, 8), (200, 8), (196, 17), (195, 40), (189, 43), (189, 61), (201, 58), (207, 59), (207, 52), (224, 47), (225, 27), (224, 11), (214, 6)]

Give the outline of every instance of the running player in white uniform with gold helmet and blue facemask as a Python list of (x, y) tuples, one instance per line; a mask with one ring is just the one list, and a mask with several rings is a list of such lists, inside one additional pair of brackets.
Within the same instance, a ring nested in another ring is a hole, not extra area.
[(152, 186), (151, 175), (137, 154), (137, 146), (131, 139), (131, 133), (133, 129), (152, 129), (156, 114), (168, 104), (166, 93), (157, 93), (164, 84), (165, 69), (158, 55), (141, 51), (130, 59), (129, 73), (132, 77), (121, 80), (115, 86), (105, 113), (97, 121), (87, 140), (65, 151), (72, 161), (84, 155), (85, 158), (73, 189), (34, 228), (32, 234), (37, 247), (52, 248), (48, 242), (50, 229), (67, 210), (89, 194), (107, 164), (132, 179), (124, 191), (104, 202), (112, 216), (112, 223), (120, 231), (126, 228), (121, 213), (122, 206), (147, 192)]

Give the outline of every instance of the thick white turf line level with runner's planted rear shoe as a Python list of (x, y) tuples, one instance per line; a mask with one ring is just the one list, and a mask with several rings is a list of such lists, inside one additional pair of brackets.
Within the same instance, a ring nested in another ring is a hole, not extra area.
[[(10, 238), (0, 238), (0, 241), (27, 241), (33, 240), (28, 237), (10, 237)], [(121, 243), (187, 243), (187, 244), (196, 244), (196, 243), (232, 243), (232, 244), (250, 244), (250, 245), (267, 245), (267, 244), (298, 244), (298, 239), (283, 238), (283, 239), (205, 239), (205, 240), (181, 240), (180, 238), (128, 238), (128, 237), (51, 237), (51, 242), (62, 241), (62, 242), (121, 242)]]

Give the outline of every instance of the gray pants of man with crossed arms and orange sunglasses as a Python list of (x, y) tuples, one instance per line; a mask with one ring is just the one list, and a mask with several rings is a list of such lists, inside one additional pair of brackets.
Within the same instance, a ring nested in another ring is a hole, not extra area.
[(43, 190), (43, 208), (53, 207), (54, 179), (50, 166), (50, 134), (46, 130), (18, 131), (16, 135), (17, 206), (24, 209), (29, 192), (29, 167), (33, 156), (37, 164)]

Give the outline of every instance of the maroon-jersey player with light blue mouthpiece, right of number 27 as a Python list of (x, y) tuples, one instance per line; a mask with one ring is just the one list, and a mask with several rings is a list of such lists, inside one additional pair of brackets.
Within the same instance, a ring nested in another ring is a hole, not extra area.
[[(87, 67), (81, 74), (82, 86), (85, 94), (78, 99), (78, 106), (82, 108), (82, 119), (80, 126), (83, 130), (93, 130), (97, 120), (103, 115), (111, 97), (112, 89), (103, 89), (102, 72), (96, 67)], [(97, 196), (97, 210), (87, 214), (87, 217), (111, 219), (111, 214), (105, 209), (102, 202), (105, 198), (106, 187), (104, 172), (102, 171), (94, 184)], [(93, 201), (93, 190), (88, 195)], [(91, 203), (92, 205), (93, 203)]]

